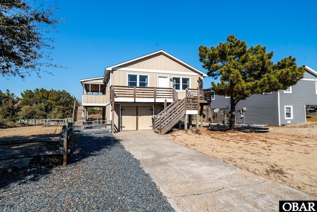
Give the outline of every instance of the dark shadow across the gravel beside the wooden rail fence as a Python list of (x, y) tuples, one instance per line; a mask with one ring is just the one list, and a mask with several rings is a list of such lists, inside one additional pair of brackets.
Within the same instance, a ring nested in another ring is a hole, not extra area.
[[(101, 149), (111, 148), (119, 142), (120, 141), (116, 140), (111, 134), (75, 134), (73, 135), (68, 147), (70, 149), (70, 153), (67, 155), (67, 165), (77, 163), (82, 159), (95, 155)], [(45, 161), (48, 161), (44, 160), (44, 162), (42, 161), (41, 163), (34, 164), (32, 166), (26, 164), (23, 169), (16, 166), (9, 167), (0, 173), (0, 188), (4, 188), (14, 182), (22, 184), (29, 181), (38, 181), (45, 175), (51, 174), (53, 168), (61, 167), (62, 164), (62, 156), (55, 156), (53, 158), (56, 160), (55, 164), (50, 163), (52, 160), (49, 160), (50, 162), (45, 164)], [(31, 161), (32, 160), (34, 161), (37, 159), (33, 158)], [(0, 161), (0, 163), (2, 162), (6, 161)]]

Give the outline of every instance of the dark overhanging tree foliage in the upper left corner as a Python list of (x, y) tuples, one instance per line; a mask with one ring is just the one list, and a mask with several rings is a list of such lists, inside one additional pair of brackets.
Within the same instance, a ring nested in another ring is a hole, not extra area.
[(40, 76), (43, 67), (61, 67), (52, 64), (50, 51), (53, 38), (49, 32), (56, 30), (59, 18), (54, 18), (56, 8), (42, 0), (0, 0), (0, 74), (5, 77)]

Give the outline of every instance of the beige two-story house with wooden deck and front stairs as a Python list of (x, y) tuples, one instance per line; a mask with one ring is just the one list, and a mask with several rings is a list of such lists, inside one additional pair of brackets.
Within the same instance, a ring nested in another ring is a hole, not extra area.
[[(176, 105), (185, 97), (206, 94), (202, 90), (205, 76), (204, 72), (159, 50), (110, 66), (102, 77), (80, 80), (83, 86), (83, 111), (87, 107), (102, 107), (104, 119), (113, 120), (114, 132), (152, 130), (153, 118), (167, 105)], [(202, 103), (208, 104), (208, 101), (204, 98), (198, 100), (198, 105)], [(177, 123), (185, 113), (199, 112), (197, 107), (193, 110), (188, 108), (188, 104), (186, 107), (184, 113), (169, 122)], [(83, 112), (82, 118), (86, 118), (85, 114)], [(161, 122), (158, 120), (157, 125)], [(156, 128), (161, 133), (162, 127)]]

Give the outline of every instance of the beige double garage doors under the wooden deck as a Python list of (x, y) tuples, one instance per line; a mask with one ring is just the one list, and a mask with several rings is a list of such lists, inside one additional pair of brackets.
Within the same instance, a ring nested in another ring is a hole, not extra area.
[(121, 106), (121, 131), (152, 130), (152, 106)]

